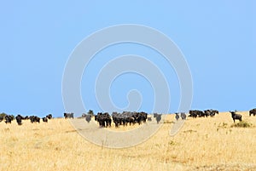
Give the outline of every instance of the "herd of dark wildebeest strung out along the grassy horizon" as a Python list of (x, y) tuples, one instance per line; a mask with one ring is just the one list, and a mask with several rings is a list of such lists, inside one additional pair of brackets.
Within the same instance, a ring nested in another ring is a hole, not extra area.
[[(230, 111), (231, 117), (234, 121), (239, 120), (241, 122), (241, 114), (236, 113), (236, 111)], [(178, 121), (179, 119), (186, 120), (187, 117), (214, 117), (215, 115), (218, 115), (217, 110), (205, 110), (205, 111), (199, 111), (199, 110), (190, 110), (188, 114), (184, 112), (175, 113), (175, 118)], [(256, 116), (256, 108), (249, 111), (249, 116)], [(156, 123), (160, 123), (162, 114), (154, 113), (153, 117), (155, 118)], [(114, 123), (114, 126), (116, 128), (119, 128), (119, 126), (127, 126), (134, 125), (134, 124), (142, 124), (151, 122), (152, 118), (148, 116), (148, 113), (146, 112), (136, 112), (136, 111), (123, 111), (122, 113), (113, 112), (111, 115), (108, 112), (98, 112), (96, 115), (92, 114), (83, 114), (82, 117), (85, 118), (85, 121), (87, 123), (90, 123), (91, 117), (94, 117), (95, 121), (99, 124), (100, 128), (108, 128), (111, 127), (112, 123)], [(5, 123), (12, 123), (13, 120), (16, 120), (16, 123), (18, 125), (22, 125), (22, 120), (30, 120), (31, 123), (40, 123), (40, 120), (44, 123), (48, 123), (49, 119), (52, 119), (52, 114), (47, 115), (46, 117), (37, 117), (37, 116), (26, 116), (22, 117), (20, 114), (16, 117), (12, 115), (5, 115), (0, 116), (0, 123), (5, 120)], [(74, 118), (73, 113), (64, 113), (64, 118)]]

